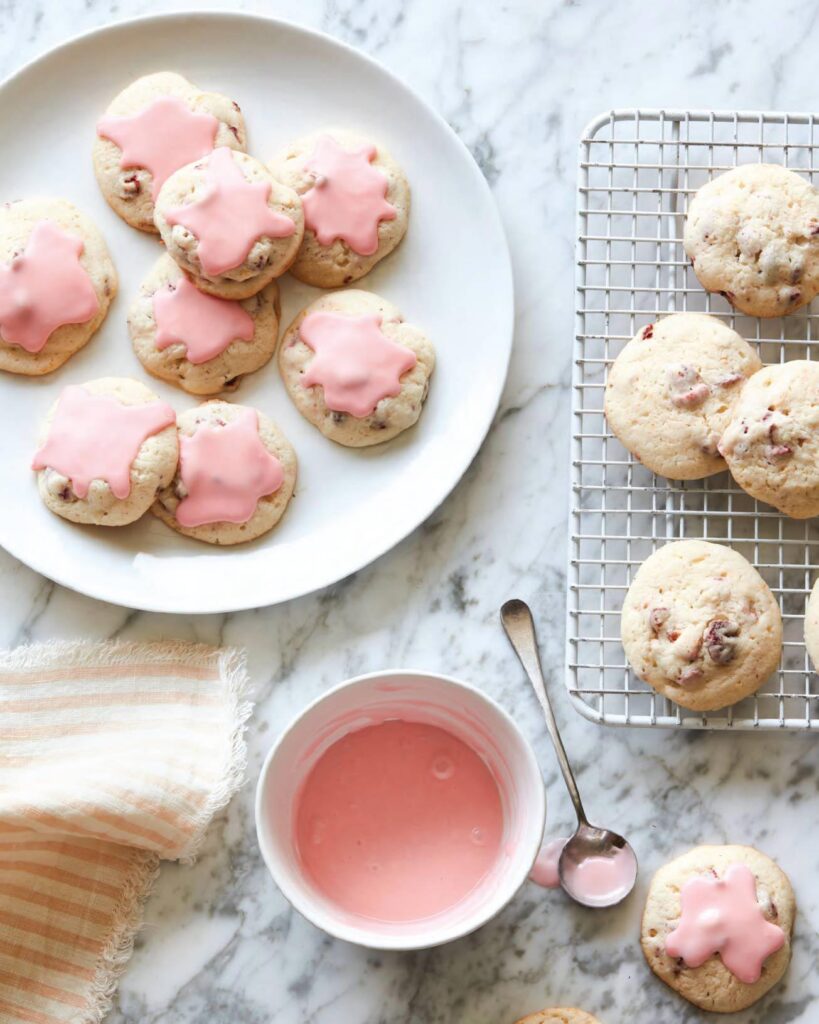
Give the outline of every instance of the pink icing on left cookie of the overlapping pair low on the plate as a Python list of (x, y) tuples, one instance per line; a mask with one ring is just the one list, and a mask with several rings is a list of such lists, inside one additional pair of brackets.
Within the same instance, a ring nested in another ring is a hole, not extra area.
[(32, 469), (53, 469), (85, 498), (91, 480), (104, 480), (114, 496), (131, 493), (131, 465), (142, 442), (176, 423), (165, 401), (125, 406), (106, 394), (72, 385), (60, 394), (45, 444)]

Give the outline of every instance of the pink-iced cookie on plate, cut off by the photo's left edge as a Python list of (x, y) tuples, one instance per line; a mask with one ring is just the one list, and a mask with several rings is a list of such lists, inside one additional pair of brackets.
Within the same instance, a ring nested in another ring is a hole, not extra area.
[(64, 199), (0, 207), (0, 370), (51, 373), (85, 345), (117, 294), (96, 225)]

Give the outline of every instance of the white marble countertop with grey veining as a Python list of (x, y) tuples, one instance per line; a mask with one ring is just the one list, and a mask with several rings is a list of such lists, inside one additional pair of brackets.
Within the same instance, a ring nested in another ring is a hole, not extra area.
[[(208, 3), (3, 0), (0, 73), (66, 37)], [(227, 5), (224, 5), (227, 6)], [(258, 771), (290, 717), (332, 683), (385, 667), (441, 670), (512, 711), (542, 759), (551, 834), (570, 805), (533, 696), (498, 624), (507, 597), (535, 611), (566, 745), (593, 820), (626, 833), (638, 891), (583, 910), (527, 885), (475, 935), (382, 954), (331, 941), (292, 911), (258, 853), (252, 786), (193, 867), (166, 865), (112, 1024), (504, 1024), (574, 1005), (606, 1024), (703, 1016), (646, 968), (638, 944), (651, 872), (700, 842), (758, 845), (790, 876), (799, 918), (786, 983), (733, 1019), (816, 1021), (819, 827), (814, 736), (602, 729), (563, 695), (568, 400), (576, 140), (610, 106), (812, 110), (818, 8), (783, 0), (258, 0), (229, 6), (321, 29), (375, 55), (435, 106), (489, 180), (512, 247), (517, 328), (494, 428), (454, 495), (393, 552), (283, 607), (182, 618), (100, 604), (0, 553), (0, 643), (54, 637), (196, 638), (247, 647)], [(799, 833), (798, 833), (799, 829)]]

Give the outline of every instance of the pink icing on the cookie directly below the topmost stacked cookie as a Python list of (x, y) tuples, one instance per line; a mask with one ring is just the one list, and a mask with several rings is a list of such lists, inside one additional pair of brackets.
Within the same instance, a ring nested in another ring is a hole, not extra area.
[(189, 362), (213, 359), (234, 341), (251, 341), (253, 317), (238, 302), (217, 299), (187, 278), (154, 293), (157, 348), (182, 344)]

